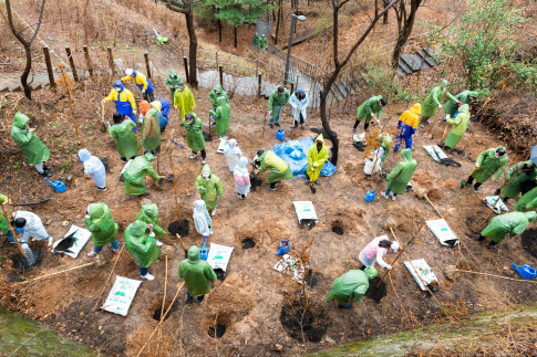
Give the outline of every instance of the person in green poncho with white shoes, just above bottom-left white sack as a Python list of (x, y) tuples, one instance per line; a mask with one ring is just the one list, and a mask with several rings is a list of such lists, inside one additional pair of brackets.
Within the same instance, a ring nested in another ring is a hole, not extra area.
[(145, 280), (154, 280), (147, 271), (161, 254), (161, 250), (156, 245), (155, 237), (152, 237), (151, 230), (145, 222), (135, 221), (128, 224), (125, 230), (124, 238), (127, 251), (134, 258), (140, 266), (140, 276)]

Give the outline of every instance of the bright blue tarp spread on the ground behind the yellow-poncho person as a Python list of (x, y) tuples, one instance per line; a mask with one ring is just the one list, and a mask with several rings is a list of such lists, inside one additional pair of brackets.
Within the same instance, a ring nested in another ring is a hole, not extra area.
[[(310, 137), (300, 140), (289, 140), (285, 144), (276, 144), (272, 151), (281, 157), (291, 168), (295, 178), (306, 177), (308, 168), (308, 149), (313, 145)], [(321, 176), (332, 176), (337, 168), (332, 162), (327, 161), (322, 166)]]

